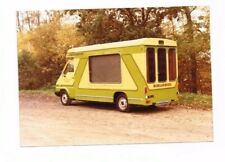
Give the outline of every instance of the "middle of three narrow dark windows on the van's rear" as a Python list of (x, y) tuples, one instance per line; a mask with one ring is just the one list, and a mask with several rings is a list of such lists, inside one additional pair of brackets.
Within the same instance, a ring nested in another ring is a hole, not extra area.
[(158, 48), (158, 81), (166, 81), (166, 49)]

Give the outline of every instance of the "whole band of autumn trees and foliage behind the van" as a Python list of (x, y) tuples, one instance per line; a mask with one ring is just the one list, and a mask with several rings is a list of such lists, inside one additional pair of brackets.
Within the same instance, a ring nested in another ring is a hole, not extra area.
[(180, 91), (211, 94), (209, 20), (194, 6), (18, 11), (19, 87), (54, 85), (71, 47), (160, 37), (178, 42)]

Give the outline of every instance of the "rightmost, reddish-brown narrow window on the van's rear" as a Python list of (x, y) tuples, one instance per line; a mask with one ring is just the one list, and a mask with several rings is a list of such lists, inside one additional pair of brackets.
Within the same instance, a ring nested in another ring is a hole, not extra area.
[(170, 48), (168, 52), (169, 58), (169, 80), (174, 81), (176, 79), (176, 51), (174, 48)]

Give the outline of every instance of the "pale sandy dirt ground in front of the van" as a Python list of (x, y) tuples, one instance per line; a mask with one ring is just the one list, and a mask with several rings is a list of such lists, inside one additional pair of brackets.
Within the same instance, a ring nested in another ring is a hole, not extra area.
[(173, 105), (117, 111), (112, 104), (75, 103), (20, 94), (21, 146), (212, 141), (212, 111)]

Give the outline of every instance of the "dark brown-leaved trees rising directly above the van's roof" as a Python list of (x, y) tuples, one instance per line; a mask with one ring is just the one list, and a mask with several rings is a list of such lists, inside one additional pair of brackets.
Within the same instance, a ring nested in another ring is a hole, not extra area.
[(68, 10), (79, 15), (77, 24), (87, 44), (107, 43), (143, 37), (165, 37), (161, 22), (166, 8), (124, 8), (100, 10)]

